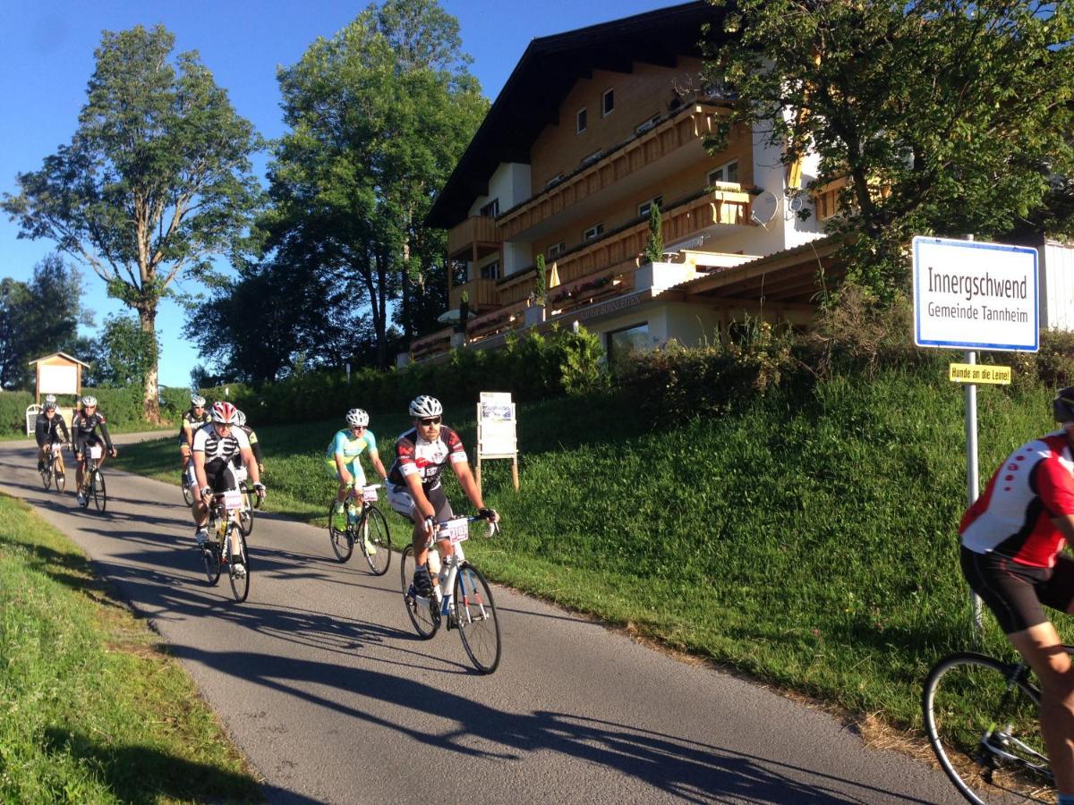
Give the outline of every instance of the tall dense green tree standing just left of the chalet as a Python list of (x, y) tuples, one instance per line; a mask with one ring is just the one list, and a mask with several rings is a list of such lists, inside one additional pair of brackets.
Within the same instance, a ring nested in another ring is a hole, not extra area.
[(390, 302), (402, 295), (407, 335), (446, 306), (446, 282), (423, 299), (446, 265), (422, 222), (488, 107), (461, 46), (435, 0), (387, 0), (279, 71), (291, 131), (270, 167), (268, 247), (304, 252), (368, 308), (381, 367)]

